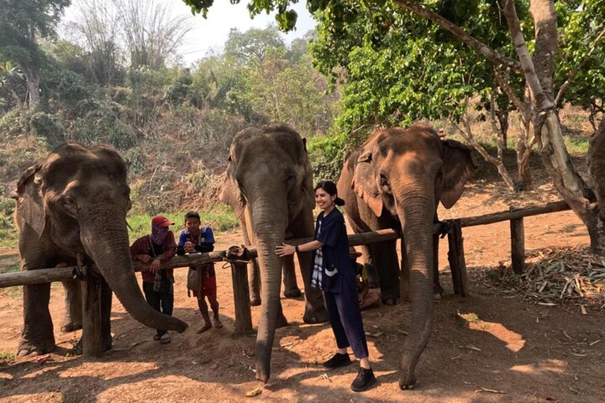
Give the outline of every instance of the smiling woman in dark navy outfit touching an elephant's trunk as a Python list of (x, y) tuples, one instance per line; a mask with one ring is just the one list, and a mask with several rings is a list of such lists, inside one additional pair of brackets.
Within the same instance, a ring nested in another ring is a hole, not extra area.
[(347, 347), (350, 346), (360, 364), (359, 373), (351, 388), (355, 392), (362, 392), (376, 378), (368, 359), (355, 271), (349, 259), (347, 229), (342, 213), (335, 208), (335, 205), (344, 205), (344, 200), (338, 198), (336, 192), (336, 184), (332, 181), (320, 182), (315, 187), (315, 201), (323, 210), (317, 217), (315, 240), (296, 247), (284, 243), (275, 250), (280, 257), (296, 251), (313, 251), (311, 285), (324, 291), (325, 307), (338, 347), (338, 352), (324, 363), (324, 367), (338, 368), (350, 364), (351, 359), (347, 353)]

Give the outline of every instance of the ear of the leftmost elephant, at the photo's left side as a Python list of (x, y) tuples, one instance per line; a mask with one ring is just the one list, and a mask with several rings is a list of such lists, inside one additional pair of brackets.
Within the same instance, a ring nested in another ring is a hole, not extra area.
[(47, 215), (41, 197), (39, 172), (40, 165), (36, 164), (21, 174), (17, 182), (17, 210), (21, 220), (20, 227), (23, 228), (24, 224), (28, 224), (38, 233), (38, 236), (41, 236)]

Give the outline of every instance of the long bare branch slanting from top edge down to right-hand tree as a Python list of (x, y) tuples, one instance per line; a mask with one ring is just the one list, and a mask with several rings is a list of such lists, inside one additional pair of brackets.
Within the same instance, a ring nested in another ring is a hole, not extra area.
[(519, 64), (519, 62), (517, 62), (517, 60), (503, 56), (502, 54), (488, 47), (488, 45), (483, 44), (479, 40), (475, 39), (473, 36), (466, 33), (464, 30), (462, 30), (462, 28), (458, 27), (456, 24), (453, 24), (453, 22), (448, 21), (447, 19), (443, 18), (434, 11), (429, 10), (427, 7), (425, 7), (424, 4), (419, 4), (415, 1), (404, 0), (393, 0), (393, 2), (401, 5), (401, 7), (407, 8), (416, 15), (430, 19), (437, 25), (440, 25), (440, 27), (450, 31), (464, 44), (468, 45), (469, 47), (473, 48), (474, 50), (483, 54), (483, 56), (491, 60), (494, 65), (503, 65), (518, 71), (522, 69), (522, 66)]

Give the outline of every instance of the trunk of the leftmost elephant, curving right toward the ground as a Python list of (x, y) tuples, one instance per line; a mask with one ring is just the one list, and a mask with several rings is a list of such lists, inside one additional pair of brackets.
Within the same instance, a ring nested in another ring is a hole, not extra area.
[(143, 298), (132, 267), (126, 221), (116, 222), (125, 213), (97, 213), (80, 220), (82, 244), (133, 318), (152, 329), (184, 332), (185, 322), (155, 311)]

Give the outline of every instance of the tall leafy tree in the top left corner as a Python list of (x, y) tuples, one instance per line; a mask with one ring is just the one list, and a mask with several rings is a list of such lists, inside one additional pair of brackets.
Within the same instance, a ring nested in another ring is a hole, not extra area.
[(0, 0), (0, 59), (19, 64), (27, 79), (30, 107), (40, 102), (40, 70), (44, 53), (38, 37), (53, 37), (71, 0)]

